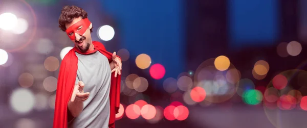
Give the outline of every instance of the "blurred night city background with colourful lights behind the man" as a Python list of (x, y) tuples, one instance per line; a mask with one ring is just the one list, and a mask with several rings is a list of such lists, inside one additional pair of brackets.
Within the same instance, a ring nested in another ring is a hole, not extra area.
[(66, 5), (122, 58), (116, 127), (306, 127), (304, 0), (0, 0), (0, 127), (52, 127)]

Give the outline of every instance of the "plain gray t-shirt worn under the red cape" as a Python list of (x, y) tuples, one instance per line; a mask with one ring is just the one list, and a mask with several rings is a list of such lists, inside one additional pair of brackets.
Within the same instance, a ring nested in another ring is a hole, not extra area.
[(107, 128), (110, 114), (109, 89), (111, 86), (111, 68), (107, 58), (97, 51), (78, 57), (76, 84), (84, 83), (84, 92), (90, 97), (83, 102), (81, 114), (68, 123), (74, 128)]

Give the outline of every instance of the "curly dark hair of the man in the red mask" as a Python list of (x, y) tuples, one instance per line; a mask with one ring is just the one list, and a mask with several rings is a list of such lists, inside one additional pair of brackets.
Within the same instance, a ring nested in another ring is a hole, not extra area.
[[(87, 12), (85, 12), (82, 8), (77, 6), (64, 6), (61, 11), (61, 15), (59, 17), (59, 28), (62, 31), (66, 31), (65, 24), (71, 23), (74, 18), (82, 17), (82, 19), (87, 18)], [(93, 27), (90, 29), (91, 33), (93, 32)]]

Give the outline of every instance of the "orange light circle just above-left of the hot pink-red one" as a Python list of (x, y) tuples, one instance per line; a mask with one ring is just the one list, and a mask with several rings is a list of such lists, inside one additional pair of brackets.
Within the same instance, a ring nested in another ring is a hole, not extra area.
[(140, 54), (136, 58), (136, 65), (141, 69), (146, 69), (151, 64), (151, 58), (147, 54)]

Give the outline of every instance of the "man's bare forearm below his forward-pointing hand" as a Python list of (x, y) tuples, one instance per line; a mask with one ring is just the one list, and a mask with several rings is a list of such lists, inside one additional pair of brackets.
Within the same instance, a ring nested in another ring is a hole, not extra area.
[(73, 103), (69, 100), (68, 110), (71, 112), (73, 117), (78, 117), (83, 110), (83, 102), (75, 100)]

